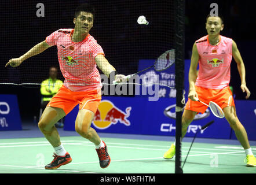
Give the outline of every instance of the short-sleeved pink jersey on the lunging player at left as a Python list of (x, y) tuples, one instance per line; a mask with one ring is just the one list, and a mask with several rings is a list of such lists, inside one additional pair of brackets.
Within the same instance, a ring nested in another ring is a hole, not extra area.
[(101, 77), (95, 57), (104, 51), (90, 34), (81, 42), (73, 42), (74, 29), (58, 29), (46, 37), (46, 43), (57, 46), (64, 86), (71, 91), (89, 91), (101, 88)]

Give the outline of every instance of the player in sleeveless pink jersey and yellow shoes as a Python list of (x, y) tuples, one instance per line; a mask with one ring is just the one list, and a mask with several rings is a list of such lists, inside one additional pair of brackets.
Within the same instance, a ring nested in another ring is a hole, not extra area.
[[(246, 152), (247, 166), (256, 166), (255, 157), (248, 142), (247, 132), (236, 116), (235, 103), (232, 92), (229, 89), (231, 78), (231, 61), (235, 59), (241, 78), (241, 89), (246, 92), (246, 99), (250, 97), (250, 91), (246, 86), (246, 70), (236, 43), (231, 38), (220, 35), (224, 29), (223, 18), (206, 18), (206, 31), (203, 36), (193, 45), (191, 65), (189, 69), (189, 94), (185, 110), (182, 115), (182, 138), (186, 134), (188, 125), (193, 121), (197, 113), (204, 113), (206, 105), (196, 101), (196, 98), (209, 104), (210, 101), (217, 103), (223, 110), (225, 118), (236, 137)], [(196, 68), (199, 64), (198, 75)], [(173, 158), (175, 143), (164, 153), (164, 158)]]

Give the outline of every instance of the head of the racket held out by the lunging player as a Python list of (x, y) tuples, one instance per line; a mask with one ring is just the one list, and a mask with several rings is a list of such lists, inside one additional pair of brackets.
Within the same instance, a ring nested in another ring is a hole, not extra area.
[(175, 62), (175, 50), (165, 51), (161, 56), (156, 59), (154, 68), (156, 71), (163, 71), (170, 68)]

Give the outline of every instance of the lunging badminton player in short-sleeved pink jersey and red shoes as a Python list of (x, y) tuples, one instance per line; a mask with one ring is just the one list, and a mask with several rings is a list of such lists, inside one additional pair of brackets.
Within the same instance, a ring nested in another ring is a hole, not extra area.
[(72, 161), (70, 154), (60, 142), (60, 135), (54, 124), (78, 103), (76, 132), (94, 143), (101, 168), (106, 168), (111, 161), (107, 146), (90, 127), (101, 101), (101, 77), (96, 67), (98, 66), (108, 77), (111, 74), (115, 75), (117, 82), (125, 80), (125, 75), (117, 74), (115, 68), (104, 57), (101, 46), (89, 34), (93, 21), (94, 8), (88, 4), (78, 6), (75, 11), (74, 29), (58, 29), (23, 56), (13, 58), (6, 64), (12, 67), (19, 66), (27, 58), (42, 53), (51, 46), (57, 46), (58, 61), (65, 81), (48, 103), (38, 123), (39, 129), (56, 151), (53, 161), (45, 166), (46, 169), (57, 169)]

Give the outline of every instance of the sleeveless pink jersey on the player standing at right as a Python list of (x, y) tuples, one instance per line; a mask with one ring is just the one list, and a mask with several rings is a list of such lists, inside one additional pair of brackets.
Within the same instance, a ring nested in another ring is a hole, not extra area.
[(196, 86), (223, 89), (231, 78), (232, 39), (220, 35), (216, 46), (209, 43), (208, 35), (196, 40), (199, 53), (199, 73)]

